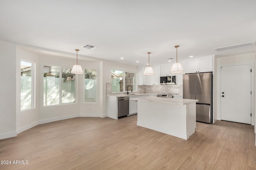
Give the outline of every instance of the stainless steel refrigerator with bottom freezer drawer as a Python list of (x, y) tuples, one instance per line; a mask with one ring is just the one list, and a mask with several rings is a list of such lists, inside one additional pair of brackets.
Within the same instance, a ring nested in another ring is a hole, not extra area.
[(183, 74), (183, 98), (196, 99), (196, 121), (212, 123), (212, 72)]

